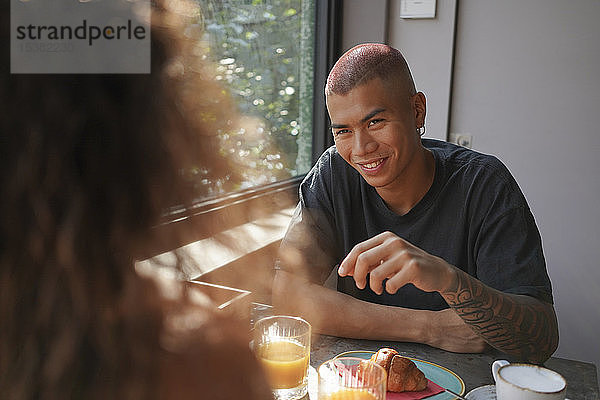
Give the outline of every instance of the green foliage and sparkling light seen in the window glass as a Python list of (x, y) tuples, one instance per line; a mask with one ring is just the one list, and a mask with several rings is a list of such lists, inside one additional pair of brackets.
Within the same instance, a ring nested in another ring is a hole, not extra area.
[[(209, 197), (308, 172), (312, 154), (315, 0), (199, 0), (203, 42), (245, 116), (219, 132), (243, 166), (237, 182), (200, 178)], [(200, 173), (198, 176), (202, 176)]]

